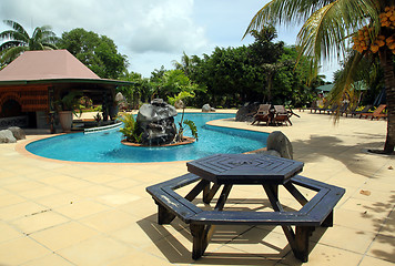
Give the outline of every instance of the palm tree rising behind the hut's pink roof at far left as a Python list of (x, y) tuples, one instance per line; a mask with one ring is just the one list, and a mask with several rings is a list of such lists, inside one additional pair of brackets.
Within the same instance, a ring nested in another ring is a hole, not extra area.
[(6, 40), (0, 45), (0, 64), (10, 63), (24, 51), (33, 50), (55, 50), (58, 38), (51, 31), (51, 27), (37, 27), (32, 37), (23, 29), (21, 24), (12, 20), (3, 21), (12, 30), (6, 30), (0, 33), (0, 40)]

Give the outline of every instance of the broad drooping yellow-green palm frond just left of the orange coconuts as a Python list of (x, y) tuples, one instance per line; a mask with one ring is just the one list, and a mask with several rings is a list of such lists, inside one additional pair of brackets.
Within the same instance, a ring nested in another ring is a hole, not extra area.
[(300, 57), (313, 59), (313, 73), (323, 60), (345, 58), (347, 38), (368, 22), (366, 18), (375, 21), (377, 16), (376, 7), (369, 0), (337, 0), (321, 8), (306, 20), (297, 34)]

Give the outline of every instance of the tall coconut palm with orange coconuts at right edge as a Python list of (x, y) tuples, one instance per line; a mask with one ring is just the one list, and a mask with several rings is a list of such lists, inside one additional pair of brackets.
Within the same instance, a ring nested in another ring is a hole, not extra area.
[[(266, 23), (303, 22), (296, 47), (311, 59), (311, 76), (324, 60), (345, 58), (348, 43), (354, 51), (346, 58), (344, 74), (336, 81), (333, 102), (341, 102), (353, 90), (357, 66), (363, 59), (375, 58), (384, 71), (387, 95), (387, 136), (384, 153), (395, 146), (395, 9), (394, 0), (272, 0), (252, 19), (246, 33)], [(245, 33), (245, 34), (246, 34)]]

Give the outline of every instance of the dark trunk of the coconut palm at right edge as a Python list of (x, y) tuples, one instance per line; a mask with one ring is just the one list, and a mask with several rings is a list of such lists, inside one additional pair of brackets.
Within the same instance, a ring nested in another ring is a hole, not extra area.
[(379, 52), (379, 61), (384, 70), (384, 81), (387, 96), (387, 137), (384, 144), (384, 153), (394, 152), (395, 146), (395, 75), (393, 53), (389, 49)]

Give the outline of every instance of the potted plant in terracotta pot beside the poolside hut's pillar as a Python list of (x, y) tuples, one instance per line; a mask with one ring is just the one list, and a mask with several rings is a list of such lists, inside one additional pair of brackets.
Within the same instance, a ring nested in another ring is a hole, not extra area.
[(71, 91), (59, 101), (60, 111), (58, 112), (58, 114), (59, 114), (59, 122), (60, 125), (62, 126), (63, 132), (71, 131), (73, 115), (77, 115), (77, 111), (79, 111), (81, 116), (82, 110), (79, 103), (79, 99), (81, 96), (82, 96), (81, 92)]

